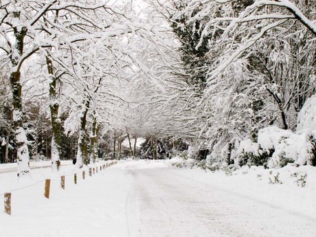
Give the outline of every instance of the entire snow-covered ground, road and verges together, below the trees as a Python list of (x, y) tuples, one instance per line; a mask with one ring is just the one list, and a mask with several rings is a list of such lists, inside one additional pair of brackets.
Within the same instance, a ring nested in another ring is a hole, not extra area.
[[(122, 162), (86, 180), (78, 175), (77, 185), (74, 166), (63, 166), (60, 173), (69, 175), (65, 190), (49, 168), (32, 170), (32, 177), (20, 183), (15, 173), (0, 174), (0, 194), (39, 182), (12, 192), (11, 216), (0, 205), (0, 234), (313, 237), (316, 170), (303, 171), (308, 173), (304, 188), (287, 175), (293, 170), (280, 171), (282, 184), (269, 184), (267, 170), (240, 170), (227, 176), (174, 168), (161, 161)], [(54, 179), (50, 199), (43, 196), (41, 180), (47, 177)]]

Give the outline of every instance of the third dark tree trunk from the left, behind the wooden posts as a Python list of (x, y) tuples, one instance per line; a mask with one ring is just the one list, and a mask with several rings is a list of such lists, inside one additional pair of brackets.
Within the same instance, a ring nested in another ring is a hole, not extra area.
[(82, 168), (83, 165), (88, 165), (89, 155), (88, 155), (88, 135), (87, 135), (87, 113), (90, 107), (90, 99), (87, 99), (83, 103), (84, 111), (80, 117), (80, 131), (78, 138), (78, 152), (77, 152), (77, 167)]

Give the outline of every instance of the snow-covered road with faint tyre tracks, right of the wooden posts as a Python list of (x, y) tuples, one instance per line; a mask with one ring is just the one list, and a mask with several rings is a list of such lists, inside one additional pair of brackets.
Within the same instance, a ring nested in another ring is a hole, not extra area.
[[(188, 170), (133, 165), (126, 175), (133, 180), (130, 199), (138, 203), (141, 237), (316, 236), (316, 218), (216, 188)], [(133, 229), (134, 219), (128, 221)]]

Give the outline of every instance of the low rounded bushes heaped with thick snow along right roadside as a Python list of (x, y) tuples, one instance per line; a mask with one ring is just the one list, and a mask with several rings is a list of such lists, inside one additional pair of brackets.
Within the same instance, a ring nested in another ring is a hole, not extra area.
[(293, 133), (276, 126), (262, 128), (258, 142), (250, 139), (240, 142), (236, 163), (240, 166), (267, 166), (281, 168), (287, 163), (298, 166), (315, 165), (316, 131)]

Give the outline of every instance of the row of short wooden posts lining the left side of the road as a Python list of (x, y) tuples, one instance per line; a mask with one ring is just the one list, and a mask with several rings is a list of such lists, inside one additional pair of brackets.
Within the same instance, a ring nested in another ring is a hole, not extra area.
[[(108, 168), (110, 166), (113, 166), (117, 163), (117, 161), (112, 161), (111, 163), (106, 163), (102, 166), (100, 166), (100, 171), (102, 168)], [(98, 173), (98, 167), (95, 168), (89, 168), (89, 176), (94, 175), (95, 173)], [(85, 171), (82, 171), (82, 179), (85, 179)], [(74, 183), (77, 184), (77, 174), (74, 174)], [(60, 186), (65, 190), (65, 176), (60, 177)], [(45, 192), (44, 196), (49, 199), (49, 190), (50, 190), (50, 179), (45, 180)], [(11, 192), (6, 192), (4, 194), (4, 212), (7, 214), (11, 214)]]

